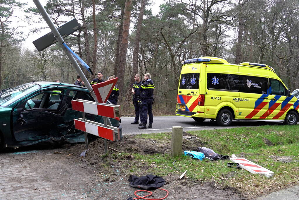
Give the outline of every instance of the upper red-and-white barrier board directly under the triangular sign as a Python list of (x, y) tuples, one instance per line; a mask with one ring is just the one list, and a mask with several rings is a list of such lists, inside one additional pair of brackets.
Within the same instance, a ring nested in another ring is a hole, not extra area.
[[(86, 102), (86, 101), (77, 101), (71, 100), (73, 110), (77, 110), (84, 113), (90, 113), (94, 115), (100, 115), (104, 117), (109, 117), (115, 119), (116, 116), (116, 107), (110, 104), (98, 104), (95, 102)], [(120, 116), (118, 116), (120, 117)]]

